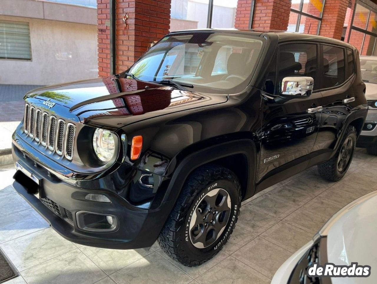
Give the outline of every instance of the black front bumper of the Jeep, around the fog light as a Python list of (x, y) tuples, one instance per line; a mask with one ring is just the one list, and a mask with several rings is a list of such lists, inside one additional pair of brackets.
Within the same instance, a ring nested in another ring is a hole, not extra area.
[[(34, 162), (20, 148), (12, 145), (14, 162), (40, 180), (36, 186), (28, 176), (18, 170), (13, 183), (15, 190), (41, 215), (51, 227), (69, 241), (103, 248), (134, 249), (150, 247), (156, 241), (170, 210), (172, 201), (162, 202), (155, 209), (144, 209), (130, 204), (114, 191), (78, 187), (67, 183)], [(129, 167), (130, 171), (137, 171)], [(124, 166), (122, 167), (124, 170)], [(115, 172), (115, 176), (119, 176)], [(108, 177), (96, 179), (96, 184), (108, 182)], [(82, 182), (80, 186), (82, 186)], [(91, 183), (89, 183), (91, 184)], [(35, 194), (35, 190), (37, 193)], [(88, 201), (86, 194), (103, 194), (110, 203)], [(47, 205), (48, 206), (47, 206)], [(118, 218), (118, 227), (113, 232), (88, 232), (77, 225), (77, 213), (87, 211)]]

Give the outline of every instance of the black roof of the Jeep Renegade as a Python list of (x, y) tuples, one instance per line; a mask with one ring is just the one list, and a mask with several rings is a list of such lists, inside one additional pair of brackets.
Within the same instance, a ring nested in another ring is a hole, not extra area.
[(275, 30), (263, 30), (263, 29), (190, 29), (184, 31), (174, 31), (170, 32), (170, 34), (176, 34), (181, 32), (232, 32), (232, 33), (239, 33), (239, 34), (250, 34), (254, 36), (264, 36), (264, 35), (277, 35), (279, 42), (288, 42), (288, 41), (309, 41), (309, 42), (316, 42), (316, 43), (328, 43), (334, 45), (340, 45), (346, 48), (352, 48), (349, 43), (342, 42), (341, 40), (331, 39), (329, 37), (322, 37), (320, 35), (312, 35), (312, 34), (302, 34), (299, 32), (287, 32), (287, 31), (275, 31)]

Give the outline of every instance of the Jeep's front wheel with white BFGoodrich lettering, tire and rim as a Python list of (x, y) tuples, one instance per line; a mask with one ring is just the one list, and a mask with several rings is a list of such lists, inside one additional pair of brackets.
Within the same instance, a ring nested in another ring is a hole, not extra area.
[(241, 206), (241, 185), (227, 168), (205, 165), (186, 180), (162, 229), (162, 250), (185, 266), (213, 258), (228, 241)]

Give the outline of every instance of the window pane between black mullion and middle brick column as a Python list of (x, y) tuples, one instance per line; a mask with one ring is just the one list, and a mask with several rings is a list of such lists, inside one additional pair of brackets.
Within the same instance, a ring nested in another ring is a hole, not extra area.
[(234, 28), (238, 0), (213, 0), (211, 28)]

